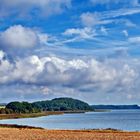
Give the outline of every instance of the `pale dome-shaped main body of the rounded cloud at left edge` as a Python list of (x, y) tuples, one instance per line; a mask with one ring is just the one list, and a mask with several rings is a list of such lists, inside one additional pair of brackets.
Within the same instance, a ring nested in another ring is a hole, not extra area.
[(38, 42), (37, 34), (21, 25), (15, 25), (8, 28), (0, 34), (1, 44), (15, 48), (32, 48)]

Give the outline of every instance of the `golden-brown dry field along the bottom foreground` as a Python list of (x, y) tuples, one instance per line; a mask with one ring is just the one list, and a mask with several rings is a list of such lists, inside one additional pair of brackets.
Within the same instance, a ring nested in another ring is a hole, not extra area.
[(140, 132), (0, 128), (0, 140), (140, 140)]

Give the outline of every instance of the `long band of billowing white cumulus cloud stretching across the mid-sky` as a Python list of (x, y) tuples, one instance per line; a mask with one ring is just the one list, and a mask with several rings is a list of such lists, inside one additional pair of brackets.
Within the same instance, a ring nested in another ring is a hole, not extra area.
[[(129, 86), (135, 79), (136, 72), (131, 66), (123, 64), (119, 68), (96, 59), (65, 60), (58, 57), (36, 55), (10, 63), (1, 59), (0, 83), (22, 82), (35, 85), (65, 85), (71, 87), (110, 88), (120, 84)], [(81, 80), (82, 79), (82, 80)], [(113, 87), (114, 88), (114, 87)]]

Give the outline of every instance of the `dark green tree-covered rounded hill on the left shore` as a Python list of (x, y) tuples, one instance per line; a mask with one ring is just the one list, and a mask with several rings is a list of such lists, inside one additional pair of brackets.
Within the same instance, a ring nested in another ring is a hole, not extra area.
[(53, 100), (28, 102), (11, 102), (6, 105), (6, 111), (14, 113), (35, 113), (41, 111), (91, 111), (87, 103), (72, 98), (56, 98)]

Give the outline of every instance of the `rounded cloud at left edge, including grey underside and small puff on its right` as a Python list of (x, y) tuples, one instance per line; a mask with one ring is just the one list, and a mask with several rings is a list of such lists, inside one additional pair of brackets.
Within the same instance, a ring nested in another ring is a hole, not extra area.
[(0, 32), (0, 48), (14, 54), (39, 48), (47, 44), (48, 40), (47, 34), (22, 25), (14, 25)]

